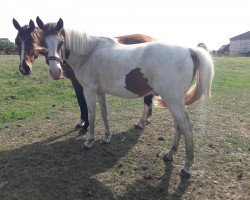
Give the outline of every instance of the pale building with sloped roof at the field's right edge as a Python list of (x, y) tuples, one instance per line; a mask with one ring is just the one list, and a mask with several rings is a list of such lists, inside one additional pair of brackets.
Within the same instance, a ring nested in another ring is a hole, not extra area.
[(230, 38), (229, 56), (250, 56), (250, 31)]

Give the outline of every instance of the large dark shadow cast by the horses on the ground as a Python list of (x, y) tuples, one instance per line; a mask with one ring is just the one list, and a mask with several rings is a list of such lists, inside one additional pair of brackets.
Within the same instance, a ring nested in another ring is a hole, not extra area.
[[(111, 144), (101, 145), (96, 141), (88, 151), (83, 150), (82, 140), (65, 137), (70, 132), (2, 151), (0, 199), (155, 199), (151, 198), (155, 192), (150, 193), (155, 190), (159, 191), (159, 197), (166, 196), (173, 170), (171, 163), (166, 163), (158, 186), (140, 188), (138, 181), (121, 198), (115, 198), (111, 189), (94, 177), (114, 167), (136, 145), (142, 132), (129, 129), (113, 134)], [(187, 186), (185, 182), (179, 184), (176, 190), (179, 196)]]

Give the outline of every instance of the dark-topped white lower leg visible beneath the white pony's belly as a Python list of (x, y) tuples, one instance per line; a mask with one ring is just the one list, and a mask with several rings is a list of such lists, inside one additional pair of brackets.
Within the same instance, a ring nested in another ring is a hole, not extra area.
[(148, 122), (148, 118), (152, 115), (152, 99), (153, 95), (144, 97), (144, 109), (141, 118), (135, 124), (136, 129), (143, 129)]

